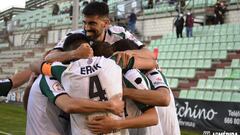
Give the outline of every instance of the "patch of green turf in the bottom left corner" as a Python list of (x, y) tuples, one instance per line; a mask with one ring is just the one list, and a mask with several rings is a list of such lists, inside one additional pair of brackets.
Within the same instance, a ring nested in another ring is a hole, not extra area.
[(0, 135), (7, 132), (12, 135), (24, 135), (26, 113), (22, 105), (0, 103)]

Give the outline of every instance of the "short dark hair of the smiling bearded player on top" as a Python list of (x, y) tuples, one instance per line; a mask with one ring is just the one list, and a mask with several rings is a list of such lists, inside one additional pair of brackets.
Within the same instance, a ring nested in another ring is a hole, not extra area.
[(85, 16), (101, 16), (108, 17), (109, 8), (104, 2), (91, 2), (82, 11)]

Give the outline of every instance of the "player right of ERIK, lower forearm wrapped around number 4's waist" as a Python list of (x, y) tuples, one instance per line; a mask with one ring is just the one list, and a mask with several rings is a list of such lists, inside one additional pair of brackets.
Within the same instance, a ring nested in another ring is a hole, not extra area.
[[(147, 77), (137, 69), (130, 69), (124, 74), (124, 86), (149, 91), (150, 82)], [(124, 88), (125, 89), (125, 88)], [(125, 98), (126, 119), (114, 120), (110, 117), (95, 117), (88, 121), (88, 127), (95, 134), (107, 133), (109, 130), (128, 128), (130, 135), (159, 135), (161, 126), (157, 124), (158, 117), (155, 114), (155, 107)], [(158, 120), (159, 121), (159, 120)], [(155, 123), (154, 123), (155, 122)]]

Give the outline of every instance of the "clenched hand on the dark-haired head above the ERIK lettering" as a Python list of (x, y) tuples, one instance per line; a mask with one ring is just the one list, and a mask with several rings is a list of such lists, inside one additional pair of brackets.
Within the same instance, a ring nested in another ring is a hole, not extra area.
[(83, 43), (76, 50), (73, 50), (74, 59), (89, 58), (93, 56), (93, 50), (88, 43)]

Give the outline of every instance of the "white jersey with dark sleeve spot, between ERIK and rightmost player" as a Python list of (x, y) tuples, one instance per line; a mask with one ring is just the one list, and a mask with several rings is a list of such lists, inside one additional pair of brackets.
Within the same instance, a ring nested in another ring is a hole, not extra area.
[[(151, 89), (151, 85), (148, 78), (137, 69), (128, 70), (124, 74), (124, 83), (128, 88), (136, 88), (139, 90)], [(129, 118), (139, 116), (144, 111), (152, 107), (153, 106), (145, 105), (139, 102), (134, 102), (130, 99), (126, 100), (126, 114), (127, 117)], [(129, 133), (130, 135), (163, 135), (160, 124), (146, 128), (129, 129)]]

